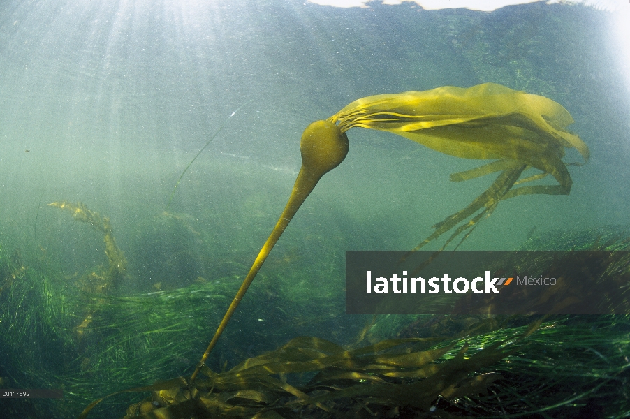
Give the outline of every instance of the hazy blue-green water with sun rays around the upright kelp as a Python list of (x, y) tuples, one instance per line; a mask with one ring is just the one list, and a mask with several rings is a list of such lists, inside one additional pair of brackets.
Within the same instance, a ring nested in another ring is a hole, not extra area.
[[(534, 227), (544, 235), (625, 226), (630, 71), (617, 17), (545, 3), (485, 13), (378, 2), (334, 8), (279, 0), (4, 1), (3, 255), (19, 255), (13, 263), (28, 267), (31, 280), (46, 275), (56, 292), (78, 295), (75, 280), (107, 264), (103, 235), (47, 204), (80, 201), (112, 222), (128, 260), (120, 295), (220, 281), (224, 300), (200, 318), (191, 346), (178, 348), (172, 368), (154, 379), (186, 368), (189, 374), (284, 208), (300, 168), (304, 128), (363, 96), (481, 82), (562, 104), (576, 121), (569, 129), (592, 158), (569, 166), (569, 196), (503, 202), (460, 249), (516, 249)], [(184, 168), (243, 104), (186, 172), (165, 214)], [(233, 365), (300, 334), (355, 340), (369, 319), (344, 317), (344, 251), (411, 249), (492, 182), (449, 181), (450, 173), (478, 161), (388, 133), (353, 128), (348, 136), (346, 160), (323, 177), (254, 281), (251, 292), (268, 305), (244, 301), (247, 315), (228, 326), (232, 351), (224, 343), (213, 365)], [(569, 152), (564, 160), (579, 159)], [(20, 307), (37, 310), (40, 303), (26, 299)], [(283, 304), (282, 314), (268, 313)], [(168, 306), (173, 318), (178, 309)], [(82, 314), (74, 316), (64, 330), (80, 323)], [(33, 333), (29, 339), (47, 351), (48, 338)], [(17, 351), (0, 342), (0, 353)], [(31, 359), (42, 362), (36, 354)], [(76, 374), (68, 365), (78, 363), (46, 362), (37, 367), (39, 382), (64, 382), (71, 391), (64, 373)], [(0, 363), (0, 377), (20, 376), (10, 365)], [(138, 363), (129, 369), (135, 374)], [(110, 386), (102, 375), (81, 379), (101, 380), (103, 392), (152, 380), (148, 373), (131, 376), (117, 372)], [(99, 395), (81, 390), (67, 417)]]

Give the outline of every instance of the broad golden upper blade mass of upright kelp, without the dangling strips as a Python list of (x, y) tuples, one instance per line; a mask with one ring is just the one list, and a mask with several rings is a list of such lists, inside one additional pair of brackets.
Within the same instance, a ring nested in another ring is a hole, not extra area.
[(589, 157), (587, 145), (566, 131), (573, 118), (562, 105), (494, 83), (368, 96), (328, 120), (342, 131), (389, 131), (465, 159), (522, 161), (563, 186), (570, 179), (560, 161), (564, 147), (577, 149), (585, 161)]

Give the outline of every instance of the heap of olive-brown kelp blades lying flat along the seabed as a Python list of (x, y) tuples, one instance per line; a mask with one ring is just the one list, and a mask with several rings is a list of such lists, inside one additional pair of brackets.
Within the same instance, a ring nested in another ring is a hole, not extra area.
[[(148, 399), (131, 405), (125, 418), (283, 419), (305, 417), (305, 409), (339, 418), (397, 417), (404, 414), (401, 409), (450, 417), (435, 409), (435, 399), (488, 394), (488, 386), (501, 374), (475, 373), (511, 355), (513, 345), (539, 324), (475, 351), (462, 342), (436, 347), (442, 339), (434, 338), (390, 339), (346, 350), (325, 339), (296, 337), (226, 372), (203, 367), (205, 378), (194, 384), (179, 377), (114, 394), (152, 392)], [(447, 354), (448, 359), (435, 362)], [(305, 385), (286, 380), (286, 374), (313, 372)], [(80, 419), (102, 400), (90, 404)]]

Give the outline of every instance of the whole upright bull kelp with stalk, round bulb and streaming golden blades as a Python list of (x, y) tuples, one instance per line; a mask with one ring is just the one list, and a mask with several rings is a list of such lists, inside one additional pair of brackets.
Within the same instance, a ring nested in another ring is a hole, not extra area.
[[(321, 176), (345, 158), (348, 150), (345, 132), (350, 128), (389, 131), (464, 159), (495, 160), (480, 168), (451, 175), (451, 180), (460, 182), (500, 172), (495, 182), (467, 207), (435, 224), (434, 233), (413, 249), (417, 250), (453, 228), (455, 232), (442, 249), (468, 230), (462, 238), (465, 240), (481, 219), (492, 214), (501, 200), (539, 193), (569, 194), (572, 181), (562, 161), (564, 149), (577, 149), (584, 161), (589, 157), (585, 143), (566, 131), (566, 126), (572, 123), (569, 112), (551, 99), (485, 83), (468, 89), (446, 86), (429, 91), (368, 96), (350, 103), (326, 121), (309, 125), (302, 134), (302, 168), (291, 197), (203, 354), (191, 383), (295, 212)], [(528, 168), (536, 168), (542, 173), (520, 179)], [(513, 188), (547, 175), (552, 175), (558, 185)]]

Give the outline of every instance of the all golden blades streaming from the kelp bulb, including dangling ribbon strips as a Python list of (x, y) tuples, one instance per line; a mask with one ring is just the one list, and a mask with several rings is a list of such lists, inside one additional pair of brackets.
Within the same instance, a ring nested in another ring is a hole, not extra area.
[[(490, 188), (464, 210), (436, 224), (436, 231), (416, 249), (483, 208), (480, 214), (455, 230), (448, 244), (490, 216), (501, 200), (539, 193), (569, 194), (572, 181), (562, 161), (564, 149), (575, 148), (585, 161), (589, 158), (585, 143), (566, 131), (573, 118), (562, 105), (543, 96), (493, 83), (469, 89), (446, 86), (429, 91), (368, 96), (350, 103), (328, 121), (338, 123), (342, 132), (355, 126), (389, 131), (452, 156), (496, 159), (485, 166), (451, 175), (451, 180), (460, 182), (501, 172)], [(527, 168), (536, 168), (542, 173), (519, 180)], [(515, 184), (532, 182), (546, 175), (555, 177), (558, 185), (512, 189)]]

